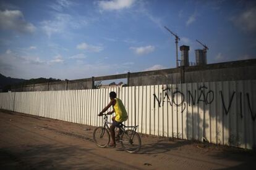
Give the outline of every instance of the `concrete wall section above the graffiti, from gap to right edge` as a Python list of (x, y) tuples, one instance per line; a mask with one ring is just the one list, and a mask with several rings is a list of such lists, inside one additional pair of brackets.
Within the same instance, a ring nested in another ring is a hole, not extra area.
[(256, 79), (256, 59), (130, 73), (129, 86)]

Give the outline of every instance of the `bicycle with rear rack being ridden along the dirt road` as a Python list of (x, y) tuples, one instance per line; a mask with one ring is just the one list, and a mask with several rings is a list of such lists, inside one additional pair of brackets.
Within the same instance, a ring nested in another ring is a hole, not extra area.
[[(108, 121), (108, 115), (103, 114), (105, 122), (104, 126), (96, 127), (93, 131), (93, 140), (98, 147), (105, 148), (110, 141), (109, 136), (109, 126), (108, 124), (112, 124)], [(132, 128), (125, 130), (124, 128)], [(140, 150), (141, 140), (139, 134), (136, 132), (138, 126), (125, 126), (124, 124), (120, 124), (115, 128), (115, 133), (117, 134), (116, 140), (120, 142), (122, 148), (129, 153), (135, 153)], [(117, 132), (119, 129), (119, 132)]]

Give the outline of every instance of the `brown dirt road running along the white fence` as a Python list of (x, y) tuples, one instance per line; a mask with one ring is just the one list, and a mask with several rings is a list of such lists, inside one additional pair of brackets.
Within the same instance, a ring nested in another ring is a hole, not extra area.
[(0, 110), (1, 169), (256, 169), (237, 148), (140, 134), (139, 153), (98, 148), (94, 127)]

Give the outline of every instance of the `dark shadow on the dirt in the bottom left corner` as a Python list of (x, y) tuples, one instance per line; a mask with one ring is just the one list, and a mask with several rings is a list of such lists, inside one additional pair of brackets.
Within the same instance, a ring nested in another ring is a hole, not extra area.
[[(82, 161), (92, 149), (58, 147), (54, 145), (27, 145), (0, 148), (0, 169), (69, 169), (92, 168), (93, 161)], [(77, 163), (76, 159), (81, 159)], [(74, 162), (72, 160), (75, 160)], [(84, 159), (88, 160), (88, 158)], [(73, 162), (73, 163), (72, 163)]]

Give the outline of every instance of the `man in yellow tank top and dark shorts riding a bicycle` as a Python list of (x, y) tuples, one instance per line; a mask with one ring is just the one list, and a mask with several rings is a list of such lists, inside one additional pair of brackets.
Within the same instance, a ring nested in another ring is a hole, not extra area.
[(98, 114), (98, 116), (102, 116), (105, 111), (108, 110), (109, 107), (113, 107), (113, 111), (109, 111), (107, 114), (111, 115), (112, 113), (116, 113), (116, 116), (112, 118), (113, 123), (110, 126), (110, 133), (111, 133), (111, 139), (112, 141), (109, 143), (109, 147), (116, 147), (116, 140), (115, 140), (115, 133), (114, 133), (114, 128), (116, 126), (119, 126), (123, 121), (126, 121), (128, 116), (127, 116), (127, 111), (126, 108), (124, 107), (124, 104), (122, 103), (122, 100), (116, 98), (116, 92), (110, 92), (109, 93), (109, 98), (110, 102), (109, 104), (103, 108), (103, 110)]

